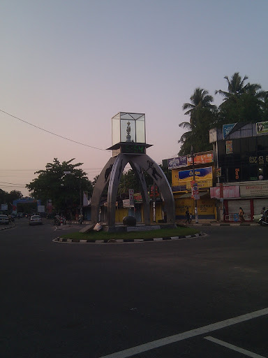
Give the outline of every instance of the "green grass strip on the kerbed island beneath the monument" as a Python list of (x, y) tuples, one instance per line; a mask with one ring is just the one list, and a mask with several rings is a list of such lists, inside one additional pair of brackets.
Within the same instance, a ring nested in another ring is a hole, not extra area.
[(128, 239), (128, 238), (165, 238), (172, 236), (186, 236), (200, 233), (200, 230), (191, 227), (177, 227), (177, 229), (158, 229), (150, 231), (133, 231), (133, 232), (105, 232), (90, 231), (89, 233), (73, 232), (61, 235), (62, 238), (73, 238), (79, 240), (105, 240), (110, 239)]

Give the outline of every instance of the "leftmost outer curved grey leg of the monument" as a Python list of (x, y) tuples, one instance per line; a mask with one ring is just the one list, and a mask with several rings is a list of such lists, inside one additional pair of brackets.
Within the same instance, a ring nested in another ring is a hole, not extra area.
[(116, 157), (111, 157), (107, 164), (104, 166), (101, 174), (98, 176), (98, 180), (94, 186), (94, 191), (91, 198), (91, 222), (96, 224), (98, 222), (98, 214), (100, 210), (100, 201), (103, 190), (107, 187), (109, 178), (112, 172), (112, 166), (114, 165)]

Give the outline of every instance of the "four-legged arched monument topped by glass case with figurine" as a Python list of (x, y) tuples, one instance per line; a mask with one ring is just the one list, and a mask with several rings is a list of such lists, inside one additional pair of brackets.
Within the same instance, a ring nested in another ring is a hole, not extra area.
[(94, 187), (91, 198), (91, 221), (98, 222), (101, 196), (103, 190), (108, 186), (107, 192), (107, 225), (115, 227), (115, 209), (117, 201), (117, 190), (121, 174), (126, 164), (130, 164), (133, 172), (141, 183), (141, 194), (143, 202), (144, 224), (150, 224), (150, 207), (147, 185), (143, 171), (146, 171), (154, 179), (161, 190), (165, 201), (167, 223), (175, 224), (175, 204), (172, 189), (162, 169), (147, 154), (145, 114), (119, 112), (112, 117), (112, 157), (101, 171)]

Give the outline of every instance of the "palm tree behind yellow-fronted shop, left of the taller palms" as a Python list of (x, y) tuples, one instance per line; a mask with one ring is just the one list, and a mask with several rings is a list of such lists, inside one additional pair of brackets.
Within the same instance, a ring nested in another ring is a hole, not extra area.
[(191, 96), (191, 103), (184, 103), (185, 115), (190, 115), (190, 122), (181, 122), (179, 127), (186, 129), (179, 139), (181, 149), (179, 155), (187, 155), (191, 152), (191, 145), (195, 145), (196, 152), (211, 150), (209, 144), (209, 129), (216, 121), (216, 106), (212, 104), (213, 97), (207, 90), (200, 87), (195, 89)]

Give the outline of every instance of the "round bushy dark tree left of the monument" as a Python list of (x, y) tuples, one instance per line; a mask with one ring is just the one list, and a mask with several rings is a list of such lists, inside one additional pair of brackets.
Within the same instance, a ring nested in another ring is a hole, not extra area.
[(36, 171), (38, 178), (26, 185), (31, 196), (43, 203), (52, 199), (52, 205), (57, 211), (80, 206), (82, 192), (92, 194), (93, 187), (87, 173), (77, 169), (83, 163), (73, 164), (73, 160), (75, 158), (60, 163), (54, 158), (52, 163), (47, 163), (45, 170)]

